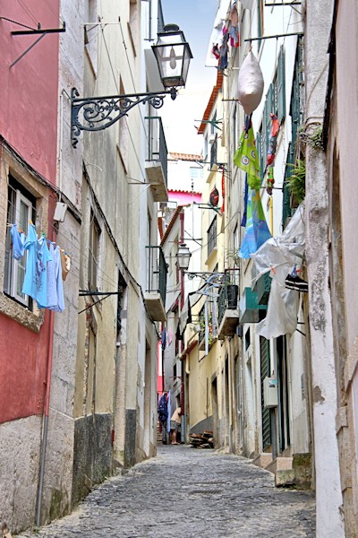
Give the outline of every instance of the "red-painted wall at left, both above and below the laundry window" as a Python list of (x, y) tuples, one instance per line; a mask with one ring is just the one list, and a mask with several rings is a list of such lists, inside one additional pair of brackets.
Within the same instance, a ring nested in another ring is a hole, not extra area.
[[(42, 29), (59, 27), (59, 0), (0, 0), (0, 16)], [(33, 169), (55, 184), (58, 102), (58, 33), (47, 34), (10, 65), (40, 34), (0, 20), (0, 134)], [(65, 36), (65, 33), (62, 34)], [(50, 201), (50, 214), (53, 200)], [(1, 284), (2, 285), (2, 284)], [(36, 334), (0, 315), (0, 423), (43, 412), (48, 317)]]

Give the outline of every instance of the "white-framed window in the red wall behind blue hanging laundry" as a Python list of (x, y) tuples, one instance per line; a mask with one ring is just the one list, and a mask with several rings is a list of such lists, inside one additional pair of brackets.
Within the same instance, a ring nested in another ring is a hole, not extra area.
[[(7, 223), (17, 224), (18, 229), (25, 235), (28, 233), (29, 222), (35, 221), (36, 199), (21, 184), (11, 176), (9, 177)], [(19, 301), (22, 305), (31, 308), (32, 301), (27, 295), (21, 293), (25, 277), (27, 254), (20, 260), (13, 258), (13, 245), (11, 240), (11, 227), (6, 229), (5, 264), (4, 264), (4, 292), (6, 295)]]

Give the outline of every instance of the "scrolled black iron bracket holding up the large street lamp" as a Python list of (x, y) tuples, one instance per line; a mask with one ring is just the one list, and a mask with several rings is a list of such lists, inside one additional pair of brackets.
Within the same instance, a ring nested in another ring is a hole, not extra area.
[(140, 103), (149, 103), (153, 108), (161, 108), (166, 95), (169, 94), (172, 100), (175, 100), (176, 93), (176, 89), (171, 88), (159, 92), (81, 98), (76, 88), (72, 88), (72, 147), (76, 147), (81, 131), (103, 131), (121, 117), (127, 116), (128, 110)]

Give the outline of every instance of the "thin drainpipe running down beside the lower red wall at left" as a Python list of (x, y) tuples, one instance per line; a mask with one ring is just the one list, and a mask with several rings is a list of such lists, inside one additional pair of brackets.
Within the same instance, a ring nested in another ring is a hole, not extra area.
[(42, 429), (42, 443), (41, 443), (41, 462), (39, 468), (39, 481), (38, 481), (38, 502), (36, 512), (36, 525), (40, 525), (41, 519), (41, 504), (42, 504), (42, 490), (44, 485), (45, 474), (45, 461), (46, 461), (46, 448), (47, 448), (47, 429), (48, 429), (48, 412), (50, 407), (50, 391), (51, 391), (51, 372), (52, 372), (52, 359), (53, 359), (53, 347), (54, 347), (54, 325), (55, 325), (55, 312), (49, 310), (49, 334), (48, 334), (48, 352), (47, 352), (47, 382), (46, 382), (46, 401), (43, 416), (43, 429)]

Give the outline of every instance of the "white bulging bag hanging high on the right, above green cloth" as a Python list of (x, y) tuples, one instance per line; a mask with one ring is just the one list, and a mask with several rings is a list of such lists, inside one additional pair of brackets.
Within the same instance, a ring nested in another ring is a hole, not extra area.
[(247, 116), (260, 105), (263, 86), (260, 64), (250, 51), (240, 68), (237, 92), (237, 100)]

